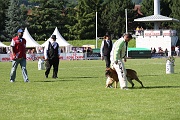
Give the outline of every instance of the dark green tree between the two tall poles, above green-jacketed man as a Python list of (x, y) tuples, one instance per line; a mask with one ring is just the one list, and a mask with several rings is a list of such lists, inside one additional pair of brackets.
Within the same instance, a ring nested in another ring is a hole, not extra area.
[[(128, 16), (132, 17), (134, 3), (132, 3), (131, 0), (107, 1), (101, 17), (101, 21), (103, 22), (104, 26), (106, 26), (107, 32), (114, 34), (114, 36), (121, 36), (123, 33), (125, 33), (125, 9), (128, 9)], [(133, 19), (129, 20), (131, 20), (131, 22), (133, 21)]]

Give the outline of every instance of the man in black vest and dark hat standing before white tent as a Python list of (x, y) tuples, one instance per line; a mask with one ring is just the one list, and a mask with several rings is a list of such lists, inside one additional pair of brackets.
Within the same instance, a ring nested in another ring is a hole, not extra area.
[(45, 59), (45, 77), (48, 78), (51, 67), (53, 66), (53, 75), (52, 78), (58, 78), (58, 67), (59, 67), (59, 58), (60, 58), (60, 48), (59, 44), (56, 42), (56, 35), (51, 36), (51, 40), (47, 42), (44, 48), (44, 59)]

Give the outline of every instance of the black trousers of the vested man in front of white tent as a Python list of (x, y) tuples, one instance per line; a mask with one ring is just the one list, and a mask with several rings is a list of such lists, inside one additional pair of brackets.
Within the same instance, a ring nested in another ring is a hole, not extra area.
[(48, 59), (45, 63), (45, 66), (46, 66), (45, 75), (46, 76), (49, 75), (51, 66), (53, 66), (53, 76), (52, 77), (57, 78), (58, 67), (59, 67), (59, 58)]

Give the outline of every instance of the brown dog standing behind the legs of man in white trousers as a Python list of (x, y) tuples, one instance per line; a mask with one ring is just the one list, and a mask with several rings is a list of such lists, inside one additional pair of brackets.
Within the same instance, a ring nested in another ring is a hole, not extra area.
[[(127, 80), (132, 85), (132, 88), (134, 87), (134, 83), (132, 82), (132, 80), (136, 80), (141, 84), (142, 87), (144, 87), (143, 83), (139, 80), (137, 76), (137, 72), (135, 70), (126, 69), (126, 71), (127, 71), (126, 74)], [(112, 88), (113, 83), (115, 83), (114, 87), (117, 88), (117, 83), (119, 82), (119, 79), (116, 70), (112, 68), (106, 68), (105, 76), (107, 77), (106, 88), (108, 87)]]

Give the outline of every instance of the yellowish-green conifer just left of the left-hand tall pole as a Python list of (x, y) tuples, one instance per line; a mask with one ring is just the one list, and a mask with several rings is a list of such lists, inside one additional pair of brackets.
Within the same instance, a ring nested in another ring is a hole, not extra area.
[(78, 0), (78, 5), (74, 8), (75, 13), (70, 15), (75, 24), (66, 25), (74, 39), (95, 38), (96, 11), (102, 2), (102, 0)]

